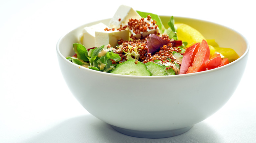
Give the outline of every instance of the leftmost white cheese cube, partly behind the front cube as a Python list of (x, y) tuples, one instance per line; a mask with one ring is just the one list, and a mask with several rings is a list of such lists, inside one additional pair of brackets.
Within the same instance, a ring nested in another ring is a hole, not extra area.
[(85, 46), (86, 49), (96, 47), (95, 31), (104, 31), (106, 27), (108, 26), (103, 23), (95, 24), (89, 27), (84, 27), (83, 35), (81, 37), (81, 43)]

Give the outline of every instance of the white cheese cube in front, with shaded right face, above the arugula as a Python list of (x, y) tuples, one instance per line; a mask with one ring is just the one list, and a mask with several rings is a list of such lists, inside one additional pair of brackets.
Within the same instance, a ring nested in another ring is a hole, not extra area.
[(102, 45), (110, 44), (116, 48), (118, 40), (128, 40), (129, 30), (110, 30), (110, 31), (95, 31), (95, 46), (100, 47)]

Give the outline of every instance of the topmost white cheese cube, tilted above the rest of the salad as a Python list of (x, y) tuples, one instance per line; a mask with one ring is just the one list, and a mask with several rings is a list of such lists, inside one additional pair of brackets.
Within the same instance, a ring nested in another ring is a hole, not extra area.
[(141, 16), (133, 8), (121, 5), (110, 20), (108, 26), (115, 29), (120, 28), (120, 25), (127, 25), (130, 18), (141, 19)]

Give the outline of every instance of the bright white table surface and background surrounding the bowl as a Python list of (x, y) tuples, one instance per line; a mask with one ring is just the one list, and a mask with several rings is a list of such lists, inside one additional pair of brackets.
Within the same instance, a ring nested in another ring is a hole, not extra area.
[[(255, 142), (256, 11), (253, 1), (230, 2), (1, 0), (0, 142)], [(230, 100), (188, 132), (161, 139), (123, 135), (88, 113), (62, 78), (56, 42), (77, 26), (111, 18), (120, 4), (159, 15), (212, 21), (243, 34), (250, 43), (250, 55), (241, 83)]]

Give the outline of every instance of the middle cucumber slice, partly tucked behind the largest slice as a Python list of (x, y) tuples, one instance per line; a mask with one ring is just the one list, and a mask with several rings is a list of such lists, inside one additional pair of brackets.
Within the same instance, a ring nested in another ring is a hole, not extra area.
[(147, 62), (145, 63), (147, 66), (147, 69), (151, 72), (152, 76), (160, 76), (160, 75), (167, 75), (167, 73), (164, 71), (164, 67), (153, 63), (153, 62)]

